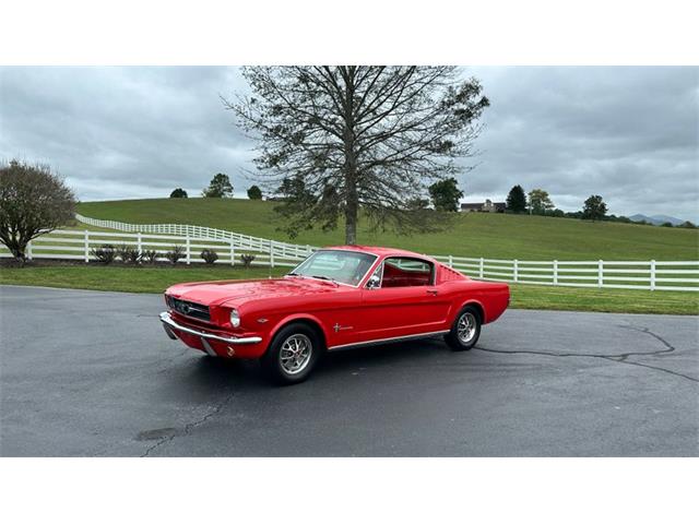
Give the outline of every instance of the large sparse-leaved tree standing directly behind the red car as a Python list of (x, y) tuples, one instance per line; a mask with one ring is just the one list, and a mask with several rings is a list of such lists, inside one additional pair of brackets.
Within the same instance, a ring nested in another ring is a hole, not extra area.
[(350, 245), (360, 209), (399, 233), (434, 226), (437, 214), (414, 202), (430, 181), (464, 169), (454, 159), (473, 154), (488, 106), (478, 81), (453, 67), (253, 67), (244, 75), (253, 94), (224, 104), (258, 140), (268, 186), (303, 189), (280, 207), (287, 233), (334, 229), (344, 217)]

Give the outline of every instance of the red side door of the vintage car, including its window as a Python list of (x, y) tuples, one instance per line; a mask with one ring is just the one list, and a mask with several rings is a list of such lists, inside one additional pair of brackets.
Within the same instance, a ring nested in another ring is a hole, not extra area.
[(384, 259), (375, 272), (378, 287), (362, 290), (357, 338), (368, 342), (442, 330), (449, 301), (435, 285), (435, 271), (434, 263), (423, 259)]

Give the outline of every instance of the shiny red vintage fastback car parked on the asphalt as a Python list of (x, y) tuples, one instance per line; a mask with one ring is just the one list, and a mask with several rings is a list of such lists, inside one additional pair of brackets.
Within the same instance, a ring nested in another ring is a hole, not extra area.
[(471, 349), (510, 291), (410, 251), (342, 246), (282, 278), (177, 284), (165, 301), (170, 338), (212, 357), (259, 358), (273, 380), (296, 383), (325, 350), (434, 335)]

